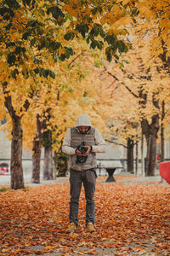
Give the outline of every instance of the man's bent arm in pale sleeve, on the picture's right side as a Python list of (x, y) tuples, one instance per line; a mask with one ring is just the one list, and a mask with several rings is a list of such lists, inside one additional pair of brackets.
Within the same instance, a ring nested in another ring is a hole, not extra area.
[(96, 145), (92, 146), (92, 152), (105, 153), (106, 143), (98, 129), (95, 129), (94, 137), (96, 140)]

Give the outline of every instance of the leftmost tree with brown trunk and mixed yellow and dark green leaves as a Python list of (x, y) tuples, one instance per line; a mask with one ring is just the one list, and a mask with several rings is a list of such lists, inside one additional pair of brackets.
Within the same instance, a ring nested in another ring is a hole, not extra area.
[[(92, 49), (105, 49), (108, 61), (112, 57), (119, 59), (119, 54), (127, 51), (128, 44), (118, 39), (110, 26), (130, 18), (126, 16), (127, 4), (119, 1), (8, 0), (0, 3), (0, 15), (1, 96), (4, 102), (1, 108), (8, 109), (14, 130), (11, 188), (20, 189), (24, 186), (21, 120), (28, 108), (35, 109), (34, 97), (45, 85), (50, 87), (50, 78), (55, 79), (54, 64), (74, 54), (71, 41), (78, 42), (79, 38)], [(110, 26), (107, 26), (108, 21)], [(54, 84), (57, 89), (59, 83), (55, 81)]]

